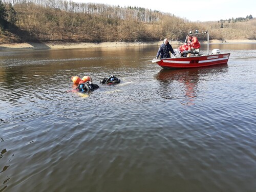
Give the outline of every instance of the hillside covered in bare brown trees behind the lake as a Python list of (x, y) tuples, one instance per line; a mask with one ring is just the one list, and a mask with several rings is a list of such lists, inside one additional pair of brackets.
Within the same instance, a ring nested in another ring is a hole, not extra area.
[(0, 0), (0, 44), (9, 42), (184, 40), (189, 31), (208, 30), (212, 39), (256, 39), (252, 15), (197, 22), (141, 7), (62, 0)]

